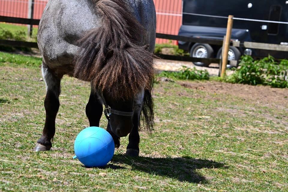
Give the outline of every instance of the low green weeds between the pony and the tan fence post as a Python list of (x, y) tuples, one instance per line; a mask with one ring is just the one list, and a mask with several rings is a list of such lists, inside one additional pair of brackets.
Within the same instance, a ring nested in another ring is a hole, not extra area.
[(174, 71), (163, 71), (159, 74), (159, 76), (165, 76), (169, 78), (176, 79), (189, 79), (189, 80), (208, 80), (209, 73), (207, 70), (197, 70), (194, 68), (188, 68), (182, 66), (182, 69), (179, 72)]

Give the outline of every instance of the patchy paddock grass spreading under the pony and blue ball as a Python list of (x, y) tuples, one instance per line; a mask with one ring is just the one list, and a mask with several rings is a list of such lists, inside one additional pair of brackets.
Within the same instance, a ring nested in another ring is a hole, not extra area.
[(140, 157), (125, 157), (125, 137), (106, 168), (85, 168), (72, 157), (88, 125), (89, 84), (64, 76), (53, 149), (35, 153), (45, 121), (41, 59), (0, 57), (0, 191), (288, 190), (285, 103), (158, 82), (155, 129), (140, 132)]

